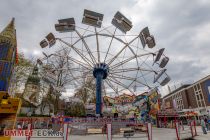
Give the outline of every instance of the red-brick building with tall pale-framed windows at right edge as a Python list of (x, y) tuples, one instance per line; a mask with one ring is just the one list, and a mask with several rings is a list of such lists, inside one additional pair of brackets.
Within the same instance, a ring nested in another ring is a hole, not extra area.
[(210, 75), (199, 81), (183, 85), (163, 97), (163, 102), (178, 112), (196, 112), (210, 115)]

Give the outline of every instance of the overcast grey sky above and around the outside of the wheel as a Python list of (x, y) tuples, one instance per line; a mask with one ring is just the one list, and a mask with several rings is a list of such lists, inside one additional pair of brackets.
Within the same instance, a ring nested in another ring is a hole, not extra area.
[(111, 21), (121, 11), (139, 31), (149, 26), (157, 46), (166, 48), (170, 85), (192, 83), (210, 74), (209, 0), (1, 0), (0, 29), (16, 19), (18, 50), (39, 56), (39, 42), (55, 32), (57, 19), (75, 17), (84, 9), (104, 14)]

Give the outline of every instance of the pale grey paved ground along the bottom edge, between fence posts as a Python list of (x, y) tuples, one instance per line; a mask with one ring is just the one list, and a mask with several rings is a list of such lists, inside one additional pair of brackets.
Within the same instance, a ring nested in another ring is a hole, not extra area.
[[(198, 136), (194, 137), (194, 140), (210, 140), (210, 131), (207, 135), (204, 135), (200, 127), (197, 127)], [(189, 136), (190, 133), (182, 135), (184, 138)], [(145, 134), (135, 134), (134, 137), (129, 138), (129, 140), (147, 140)], [(142, 137), (142, 138), (140, 138)], [(69, 135), (69, 140), (106, 140), (106, 135)], [(113, 140), (126, 140), (123, 138), (123, 135), (114, 135)], [(12, 140), (26, 140), (25, 137), (15, 137)], [(31, 140), (62, 140), (62, 138), (31, 138)], [(176, 140), (175, 129), (166, 129), (166, 128), (153, 128), (153, 140)]]

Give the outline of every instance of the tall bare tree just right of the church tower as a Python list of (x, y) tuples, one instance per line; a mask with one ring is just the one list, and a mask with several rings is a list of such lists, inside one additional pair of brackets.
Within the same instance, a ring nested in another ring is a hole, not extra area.
[(49, 55), (44, 53), (45, 60), (41, 67), (41, 77), (45, 84), (49, 86), (45, 100), (54, 105), (55, 114), (60, 110), (59, 100), (62, 92), (73, 81), (72, 63), (68, 59), (68, 53), (69, 50), (67, 49)]

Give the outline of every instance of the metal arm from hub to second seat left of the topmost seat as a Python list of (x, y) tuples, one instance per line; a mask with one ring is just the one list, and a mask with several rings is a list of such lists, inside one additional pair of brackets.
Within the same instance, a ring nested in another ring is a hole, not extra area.
[[(94, 63), (91, 62), (85, 55), (83, 55), (77, 48), (74, 47), (74, 45), (69, 44), (68, 42), (57, 38), (59, 41), (63, 42), (64, 44), (66, 44), (67, 46), (71, 47), (90, 67), (93, 67)], [(91, 63), (93, 65), (91, 65)]]

